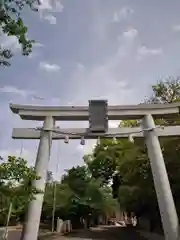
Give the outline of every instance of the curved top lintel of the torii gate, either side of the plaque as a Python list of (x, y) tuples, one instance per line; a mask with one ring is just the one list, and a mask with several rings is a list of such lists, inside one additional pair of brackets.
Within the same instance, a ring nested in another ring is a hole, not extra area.
[[(24, 120), (43, 121), (52, 116), (57, 121), (88, 121), (88, 106), (36, 106), (10, 104), (13, 113)], [(141, 119), (147, 114), (154, 118), (172, 118), (179, 115), (180, 103), (138, 104), (108, 106), (109, 120)]]

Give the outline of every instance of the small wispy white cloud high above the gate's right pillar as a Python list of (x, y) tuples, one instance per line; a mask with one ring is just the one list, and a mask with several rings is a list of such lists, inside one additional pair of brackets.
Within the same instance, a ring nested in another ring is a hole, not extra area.
[(148, 48), (147, 46), (141, 46), (137, 50), (137, 59), (141, 60), (150, 56), (157, 56), (163, 53), (162, 48)]

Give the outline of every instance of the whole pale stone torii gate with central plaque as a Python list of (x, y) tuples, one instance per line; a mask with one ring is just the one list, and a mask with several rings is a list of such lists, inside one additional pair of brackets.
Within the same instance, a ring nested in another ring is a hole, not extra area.
[[(153, 118), (179, 117), (180, 103), (107, 106), (103, 100), (89, 106), (49, 107), (10, 104), (24, 120), (43, 121), (42, 128), (14, 128), (14, 139), (40, 139), (36, 172), (41, 178), (33, 186), (44, 191), (52, 140), (145, 137), (166, 240), (179, 239), (179, 222), (158, 137), (180, 135), (179, 126), (158, 127)], [(108, 129), (108, 120), (142, 119), (141, 127)], [(89, 128), (61, 129), (55, 121), (89, 121)], [(37, 194), (28, 207), (21, 240), (37, 240), (44, 194)]]

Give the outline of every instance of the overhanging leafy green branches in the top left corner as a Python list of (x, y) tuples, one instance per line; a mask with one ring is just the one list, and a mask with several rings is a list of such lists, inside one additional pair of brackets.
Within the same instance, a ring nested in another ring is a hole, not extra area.
[[(24, 25), (21, 13), (28, 7), (32, 11), (37, 11), (39, 0), (4, 0), (0, 2), (0, 32), (1, 35), (15, 36), (21, 46), (22, 54), (27, 56), (32, 51), (34, 40), (27, 37), (28, 28)], [(11, 49), (5, 49), (0, 45), (0, 65), (9, 66), (10, 58), (13, 56)]]

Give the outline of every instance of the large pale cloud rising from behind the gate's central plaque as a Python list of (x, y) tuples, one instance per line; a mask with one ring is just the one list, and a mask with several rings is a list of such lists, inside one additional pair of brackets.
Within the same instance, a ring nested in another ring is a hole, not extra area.
[[(134, 28), (122, 33), (119, 37), (119, 47), (117, 52), (110, 56), (102, 64), (88, 69), (82, 64), (78, 64), (71, 76), (72, 92), (70, 102), (74, 104), (84, 104), (89, 99), (108, 99), (110, 104), (123, 103), (132, 99), (131, 94), (134, 89), (128, 82), (121, 78), (124, 61), (132, 55), (132, 46), (138, 35)], [(132, 58), (132, 56), (131, 56)], [(69, 90), (69, 89), (68, 89)]]

